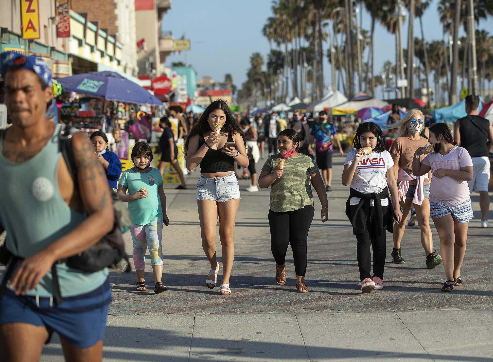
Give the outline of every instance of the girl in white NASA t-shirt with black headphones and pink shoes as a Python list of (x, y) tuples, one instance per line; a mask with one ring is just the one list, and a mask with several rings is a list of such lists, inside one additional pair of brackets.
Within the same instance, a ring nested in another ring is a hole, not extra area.
[[(394, 162), (390, 153), (384, 150), (384, 145), (380, 127), (373, 122), (362, 123), (354, 137), (356, 150), (346, 157), (342, 174), (342, 183), (351, 183), (346, 215), (356, 235), (356, 256), (363, 293), (384, 288), (385, 232), (393, 231), (392, 215), (395, 214), (396, 221), (402, 217), (397, 182), (392, 172)], [(394, 213), (389, 207), (389, 196)], [(370, 274), (370, 244), (373, 247), (373, 277)]]

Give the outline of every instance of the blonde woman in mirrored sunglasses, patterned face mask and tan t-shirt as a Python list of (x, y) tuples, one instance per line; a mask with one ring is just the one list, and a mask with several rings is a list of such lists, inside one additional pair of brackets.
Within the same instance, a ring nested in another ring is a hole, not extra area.
[[(426, 268), (432, 269), (442, 262), (440, 254), (435, 255), (433, 239), (429, 225), (430, 217), (430, 173), (416, 177), (413, 175), (413, 158), (416, 150), (428, 145), (428, 139), (421, 136), (426, 131), (424, 116), (419, 109), (411, 109), (400, 121), (393, 125), (396, 129), (396, 139), (390, 147), (390, 155), (394, 164), (395, 178), (399, 189), (400, 206), (404, 209), (400, 222), (394, 224), (392, 262), (404, 263), (401, 240), (406, 227), (406, 219), (411, 207), (414, 207), (421, 229), (421, 244), (426, 255)], [(421, 156), (424, 158), (424, 156)]]

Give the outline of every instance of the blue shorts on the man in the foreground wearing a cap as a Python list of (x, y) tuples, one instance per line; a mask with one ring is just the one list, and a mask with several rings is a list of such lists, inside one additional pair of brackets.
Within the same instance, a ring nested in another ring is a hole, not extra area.
[(63, 298), (59, 306), (52, 298), (15, 295), (6, 289), (0, 296), (0, 325), (20, 322), (43, 326), (49, 333), (45, 343), (57, 332), (71, 346), (89, 348), (104, 339), (110, 303), (108, 280), (89, 293)]

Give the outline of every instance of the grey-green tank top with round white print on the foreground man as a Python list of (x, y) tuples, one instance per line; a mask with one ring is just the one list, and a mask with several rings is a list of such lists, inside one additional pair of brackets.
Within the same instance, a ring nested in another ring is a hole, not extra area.
[[(0, 222), (7, 232), (5, 245), (15, 255), (31, 256), (69, 233), (87, 215), (77, 213), (65, 203), (58, 187), (58, 164), (62, 157), (58, 134), (30, 160), (13, 163), (3, 156), (0, 137)], [(100, 287), (108, 270), (86, 273), (57, 265), (62, 297), (87, 293)], [(52, 296), (51, 271), (27, 295)]]

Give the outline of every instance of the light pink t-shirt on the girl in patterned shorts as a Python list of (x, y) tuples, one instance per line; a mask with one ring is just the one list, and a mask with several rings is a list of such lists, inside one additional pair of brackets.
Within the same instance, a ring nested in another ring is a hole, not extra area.
[[(423, 164), (431, 167), (431, 174), (435, 170), (446, 169), (460, 171), (462, 167), (472, 166), (471, 156), (465, 148), (454, 146), (445, 156), (438, 152), (428, 154)], [(446, 206), (454, 206), (470, 200), (467, 181), (457, 181), (449, 176), (442, 178), (431, 177), (430, 202), (439, 202)]]

